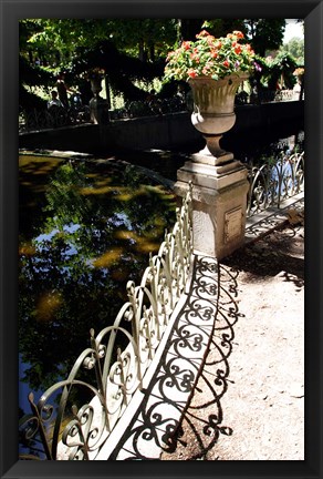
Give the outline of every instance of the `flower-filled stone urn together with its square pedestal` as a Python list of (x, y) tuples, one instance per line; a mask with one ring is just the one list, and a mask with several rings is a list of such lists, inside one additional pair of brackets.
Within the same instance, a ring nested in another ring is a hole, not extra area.
[[(191, 122), (206, 146), (177, 171), (174, 191), (192, 195), (194, 249), (221, 259), (243, 244), (249, 182), (246, 166), (219, 142), (236, 122), (239, 85), (254, 71), (254, 51), (240, 31), (215, 38), (202, 30), (167, 55), (166, 80), (187, 81), (192, 93)], [(259, 65), (258, 65), (259, 67)]]

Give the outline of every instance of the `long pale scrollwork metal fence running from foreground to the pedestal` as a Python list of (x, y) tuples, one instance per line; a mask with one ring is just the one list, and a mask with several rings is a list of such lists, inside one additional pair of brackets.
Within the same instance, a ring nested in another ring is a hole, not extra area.
[[(20, 421), (27, 450), (21, 459), (93, 460), (140, 388), (192, 265), (191, 186), (177, 210), (171, 233), (138, 286), (127, 284), (128, 302), (113, 325), (96, 336), (76, 359), (69, 377), (50, 387), (31, 415)], [(39, 445), (41, 448), (39, 448)]]

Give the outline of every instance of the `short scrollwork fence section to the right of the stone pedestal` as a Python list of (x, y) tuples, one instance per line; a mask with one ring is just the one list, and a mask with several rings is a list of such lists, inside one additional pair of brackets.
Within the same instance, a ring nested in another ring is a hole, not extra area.
[(281, 203), (304, 188), (304, 152), (282, 153), (273, 164), (252, 166), (249, 170), (247, 215), (252, 216)]

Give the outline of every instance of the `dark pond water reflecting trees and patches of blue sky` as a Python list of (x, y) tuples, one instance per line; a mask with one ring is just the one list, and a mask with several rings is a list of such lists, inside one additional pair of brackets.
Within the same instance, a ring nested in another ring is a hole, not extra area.
[(175, 222), (173, 195), (132, 165), (61, 164), (45, 200), (20, 231), (19, 340), (32, 389), (66, 375), (90, 328), (115, 318), (126, 282), (138, 282)]

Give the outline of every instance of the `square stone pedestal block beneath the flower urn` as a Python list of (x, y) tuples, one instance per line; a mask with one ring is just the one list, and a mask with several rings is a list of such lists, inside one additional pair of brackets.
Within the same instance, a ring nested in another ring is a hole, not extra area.
[(248, 171), (232, 157), (218, 166), (208, 155), (192, 160), (178, 170), (175, 193), (185, 196), (192, 183), (194, 249), (221, 259), (244, 243)]

